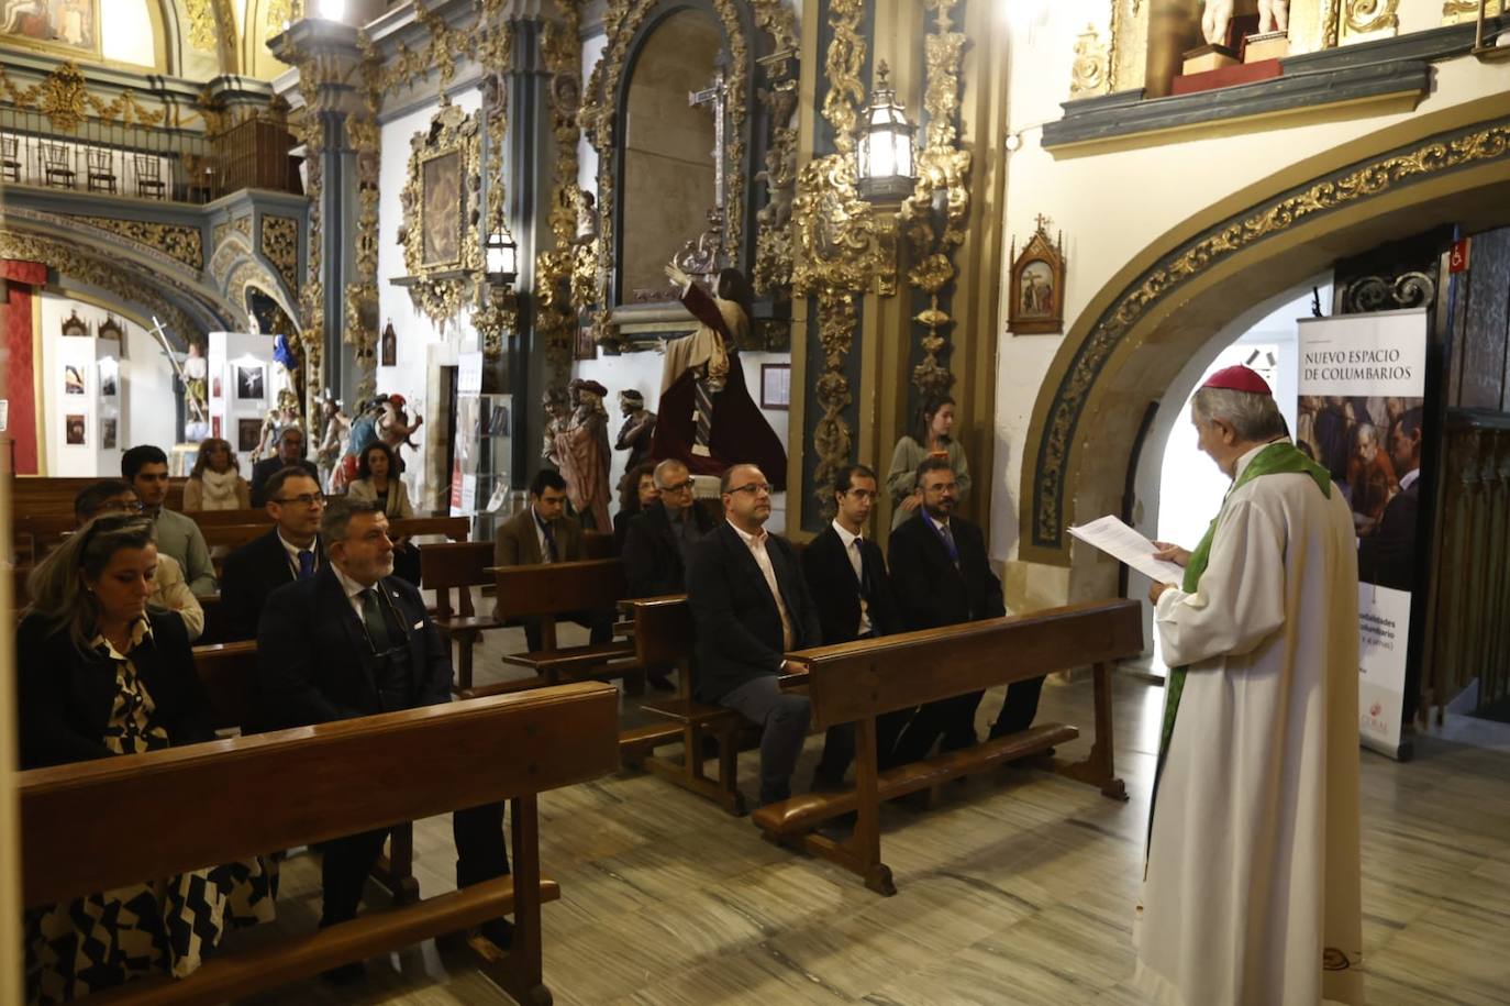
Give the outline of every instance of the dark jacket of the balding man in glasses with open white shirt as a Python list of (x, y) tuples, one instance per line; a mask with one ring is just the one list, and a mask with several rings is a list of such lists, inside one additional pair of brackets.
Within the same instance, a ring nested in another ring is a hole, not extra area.
[[(808, 595), (797, 554), (785, 538), (770, 535), (766, 553), (776, 571), (794, 648), (821, 643), (818, 610)], [(698, 631), (698, 695), (717, 702), (763, 674), (779, 674), (785, 659), (781, 612), (755, 556), (728, 521), (692, 547), (687, 601)]]

